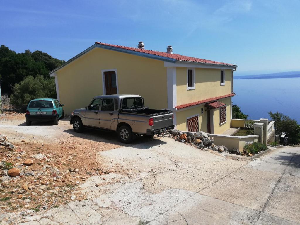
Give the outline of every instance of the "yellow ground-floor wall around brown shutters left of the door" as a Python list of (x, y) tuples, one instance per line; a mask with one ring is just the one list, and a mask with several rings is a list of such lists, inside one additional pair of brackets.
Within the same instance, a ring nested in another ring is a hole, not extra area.
[[(201, 108), (203, 108), (203, 114), (201, 114)], [(199, 114), (199, 131), (207, 132), (207, 114), (204, 104), (199, 105), (198, 107), (193, 107), (187, 110), (176, 112), (176, 129), (180, 131), (187, 131), (187, 118), (197, 114)]]

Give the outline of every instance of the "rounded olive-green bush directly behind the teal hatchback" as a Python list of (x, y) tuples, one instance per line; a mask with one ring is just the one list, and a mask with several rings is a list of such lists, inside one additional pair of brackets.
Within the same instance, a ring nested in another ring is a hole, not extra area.
[(35, 98), (56, 98), (54, 79), (44, 79), (43, 76), (26, 76), (19, 84), (13, 87), (10, 102), (16, 106), (26, 106)]

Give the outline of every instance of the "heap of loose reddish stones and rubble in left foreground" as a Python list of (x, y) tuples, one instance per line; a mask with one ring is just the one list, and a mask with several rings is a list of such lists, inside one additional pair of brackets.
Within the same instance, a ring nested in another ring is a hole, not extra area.
[(14, 146), (0, 134), (0, 214), (1, 210), (26, 213), (84, 200), (75, 187), (89, 176), (109, 173), (100, 168), (82, 168), (76, 154), (61, 155), (44, 144), (21, 143)]

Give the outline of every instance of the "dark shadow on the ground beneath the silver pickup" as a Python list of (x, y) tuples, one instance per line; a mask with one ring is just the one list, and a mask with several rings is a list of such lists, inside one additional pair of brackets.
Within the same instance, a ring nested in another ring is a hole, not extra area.
[(71, 134), (71, 137), (79, 137), (95, 142), (103, 142), (116, 144), (124, 147), (134, 147), (140, 149), (148, 149), (153, 146), (164, 145), (167, 142), (156, 138), (146, 138), (143, 136), (135, 136), (130, 144), (121, 143), (114, 131), (105, 131), (100, 129), (85, 128), (83, 133), (76, 133), (73, 129), (64, 130), (64, 132)]

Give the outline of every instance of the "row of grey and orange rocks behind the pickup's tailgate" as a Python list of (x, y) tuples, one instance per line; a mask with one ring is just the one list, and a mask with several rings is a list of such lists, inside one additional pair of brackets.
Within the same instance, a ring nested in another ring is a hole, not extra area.
[(229, 151), (225, 146), (214, 145), (212, 140), (203, 131), (183, 132), (179, 130), (170, 130), (167, 131), (166, 134), (162, 134), (162, 136), (173, 137), (178, 142), (189, 144), (190, 146), (195, 146), (198, 149), (212, 149), (218, 152), (228, 152), (232, 154), (241, 155), (238, 149), (233, 149), (232, 151)]

